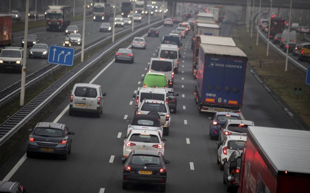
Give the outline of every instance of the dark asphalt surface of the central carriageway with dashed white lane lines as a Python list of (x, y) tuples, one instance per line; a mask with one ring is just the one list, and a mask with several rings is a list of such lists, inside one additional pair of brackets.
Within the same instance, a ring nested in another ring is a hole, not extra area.
[[(229, 36), (231, 23), (235, 22), (233, 14), (227, 12), (226, 15), (225, 21), (220, 24), (221, 36)], [(87, 28), (95, 28), (93, 25)], [(126, 134), (126, 120), (131, 120), (134, 114), (131, 97), (142, 86), (141, 78), (147, 72), (146, 65), (154, 57), (162, 36), (175, 27), (160, 27), (159, 38), (145, 37), (147, 48), (134, 49), (134, 64), (115, 63), (111, 58), (106, 62), (108, 68), (103, 66), (101, 72), (98, 70), (85, 81), (100, 84), (103, 92), (107, 93), (101, 118), (84, 113), (69, 116), (66, 110), (68, 96), (47, 120), (42, 120), (66, 124), (70, 131), (75, 132), (68, 160), (50, 156), (26, 158), (9, 180), (20, 182), (32, 193), (159, 191), (158, 187), (153, 186), (122, 189), (123, 139), (117, 136), (120, 132)], [(212, 114), (199, 114), (194, 101), (191, 33), (182, 40), (182, 59), (174, 82), (175, 92), (180, 94), (177, 113), (171, 114), (170, 133), (165, 136), (168, 139), (165, 142), (165, 158), (171, 162), (167, 165), (166, 192), (226, 192), (226, 186), (222, 183), (223, 171), (216, 164), (216, 141), (211, 141), (208, 135), (210, 120), (207, 118)], [(48, 32), (42, 34), (43, 38), (50, 36)], [(93, 79), (98, 73), (100, 75)], [(257, 126), (298, 129), (248, 70), (241, 111), (246, 120), (254, 121)], [(1, 166), (1, 179), (21, 158), (25, 158), (26, 146), (27, 141)]]

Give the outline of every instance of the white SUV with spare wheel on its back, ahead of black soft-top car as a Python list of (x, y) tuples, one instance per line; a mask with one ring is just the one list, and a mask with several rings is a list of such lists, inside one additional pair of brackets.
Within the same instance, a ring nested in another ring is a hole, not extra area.
[(169, 135), (170, 111), (166, 102), (160, 100), (144, 100), (139, 106), (137, 114), (156, 115), (160, 119), (160, 122), (165, 124), (162, 125), (164, 129), (163, 135)]

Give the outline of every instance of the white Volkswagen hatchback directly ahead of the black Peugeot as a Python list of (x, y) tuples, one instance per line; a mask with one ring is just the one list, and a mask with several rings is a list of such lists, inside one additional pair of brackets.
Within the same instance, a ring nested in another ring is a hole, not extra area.
[(153, 150), (164, 155), (166, 138), (161, 138), (157, 131), (133, 129), (128, 136), (122, 135), (124, 140), (123, 157), (127, 158), (133, 150)]

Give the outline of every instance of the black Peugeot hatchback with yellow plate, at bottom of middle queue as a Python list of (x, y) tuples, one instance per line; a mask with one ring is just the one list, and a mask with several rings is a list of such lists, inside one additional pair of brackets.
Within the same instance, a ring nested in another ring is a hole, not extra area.
[(167, 167), (170, 162), (162, 153), (150, 150), (133, 150), (126, 160), (123, 170), (123, 189), (128, 184), (159, 185), (162, 192), (166, 191)]

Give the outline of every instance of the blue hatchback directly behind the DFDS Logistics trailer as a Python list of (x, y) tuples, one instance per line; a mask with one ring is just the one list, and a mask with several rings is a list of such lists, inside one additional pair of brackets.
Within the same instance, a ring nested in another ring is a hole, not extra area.
[(233, 113), (233, 112), (216, 112), (213, 117), (209, 117), (209, 120), (212, 120), (210, 122), (210, 139), (217, 139), (219, 137), (219, 130), (223, 126), (226, 120), (232, 119), (232, 120), (241, 120), (241, 117), (239, 113)]

